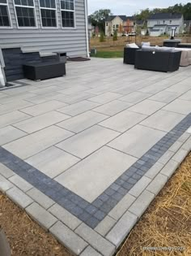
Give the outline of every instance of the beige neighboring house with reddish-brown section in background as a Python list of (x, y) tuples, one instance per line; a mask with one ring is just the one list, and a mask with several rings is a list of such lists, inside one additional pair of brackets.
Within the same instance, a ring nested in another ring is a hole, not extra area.
[(110, 15), (105, 20), (105, 35), (111, 36), (117, 30), (118, 36), (125, 32), (134, 32), (134, 17), (126, 15)]

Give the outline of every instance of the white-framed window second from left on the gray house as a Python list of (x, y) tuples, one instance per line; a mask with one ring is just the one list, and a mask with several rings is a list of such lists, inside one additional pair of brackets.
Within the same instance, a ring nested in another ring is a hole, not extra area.
[[(0, 0), (1, 1), (1, 0)], [(15, 0), (15, 12), (19, 27), (36, 27), (33, 0)]]

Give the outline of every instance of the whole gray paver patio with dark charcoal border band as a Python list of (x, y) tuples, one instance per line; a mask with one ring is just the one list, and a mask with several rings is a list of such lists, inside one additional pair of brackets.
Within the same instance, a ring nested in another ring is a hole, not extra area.
[(191, 66), (66, 72), (0, 90), (0, 189), (74, 254), (108, 256), (191, 150)]

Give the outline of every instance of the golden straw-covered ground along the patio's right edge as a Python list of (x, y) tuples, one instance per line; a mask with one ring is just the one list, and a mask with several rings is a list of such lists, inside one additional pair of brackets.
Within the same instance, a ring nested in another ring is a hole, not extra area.
[(126, 255), (191, 255), (191, 154), (130, 232), (117, 254)]

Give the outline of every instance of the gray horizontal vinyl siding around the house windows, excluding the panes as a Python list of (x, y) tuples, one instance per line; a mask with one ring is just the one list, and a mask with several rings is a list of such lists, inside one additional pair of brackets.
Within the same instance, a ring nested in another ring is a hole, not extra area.
[(13, 1), (8, 0), (12, 28), (0, 28), (0, 48), (1, 46), (21, 46), (23, 50), (36, 49), (41, 52), (63, 50), (69, 56), (87, 55), (84, 0), (74, 1), (75, 28), (62, 28), (59, 0), (56, 0), (58, 28), (41, 28), (38, 0), (34, 0), (37, 28), (18, 28)]

